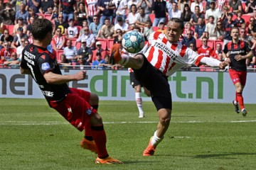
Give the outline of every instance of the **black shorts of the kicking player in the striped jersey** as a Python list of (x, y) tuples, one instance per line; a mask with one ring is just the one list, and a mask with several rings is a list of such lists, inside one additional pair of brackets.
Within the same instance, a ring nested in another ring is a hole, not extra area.
[[(143, 54), (139, 54), (143, 55)], [(167, 77), (152, 66), (144, 57), (142, 68), (133, 69), (135, 78), (151, 93), (157, 111), (161, 108), (172, 108), (171, 89)]]

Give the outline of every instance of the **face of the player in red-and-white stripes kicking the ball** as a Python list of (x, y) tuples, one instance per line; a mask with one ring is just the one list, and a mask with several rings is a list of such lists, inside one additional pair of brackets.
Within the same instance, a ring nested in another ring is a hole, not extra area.
[(181, 33), (183, 33), (183, 29), (181, 29), (181, 26), (179, 23), (170, 21), (167, 24), (166, 37), (169, 40), (169, 42), (178, 42), (178, 39), (180, 38)]

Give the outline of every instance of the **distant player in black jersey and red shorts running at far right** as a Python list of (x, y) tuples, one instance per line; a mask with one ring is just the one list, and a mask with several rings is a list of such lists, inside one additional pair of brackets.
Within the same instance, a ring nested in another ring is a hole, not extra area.
[(242, 115), (246, 116), (247, 111), (244, 106), (242, 90), (245, 88), (247, 66), (246, 59), (252, 58), (253, 53), (247, 42), (239, 40), (239, 29), (234, 27), (231, 29), (230, 35), (232, 40), (228, 42), (223, 50), (225, 61), (230, 62), (229, 74), (235, 85), (235, 112), (239, 113), (238, 103), (240, 105)]

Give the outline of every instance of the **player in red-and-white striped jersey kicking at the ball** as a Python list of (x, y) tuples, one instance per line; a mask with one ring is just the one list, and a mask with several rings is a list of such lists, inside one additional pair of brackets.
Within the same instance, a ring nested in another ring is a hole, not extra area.
[(136, 79), (151, 93), (151, 99), (159, 115), (157, 130), (149, 140), (143, 156), (154, 154), (156, 146), (163, 140), (171, 122), (171, 89), (168, 77), (181, 67), (190, 64), (206, 64), (210, 67), (224, 69), (228, 62), (220, 62), (210, 57), (203, 57), (185, 45), (179, 38), (183, 33), (184, 24), (180, 18), (171, 18), (166, 26), (166, 34), (153, 32), (149, 43), (134, 57), (121, 55), (119, 45), (113, 45), (110, 57), (111, 64), (121, 64), (134, 70)]

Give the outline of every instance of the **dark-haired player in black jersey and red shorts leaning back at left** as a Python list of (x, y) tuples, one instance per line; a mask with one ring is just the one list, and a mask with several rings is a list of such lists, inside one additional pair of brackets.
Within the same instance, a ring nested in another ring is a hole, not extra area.
[(46, 49), (53, 38), (52, 32), (52, 23), (47, 19), (33, 22), (31, 33), (34, 42), (23, 49), (21, 73), (31, 74), (51, 108), (78, 130), (85, 129), (85, 138), (80, 145), (97, 152), (96, 164), (122, 164), (107, 153), (107, 138), (102, 118), (97, 113), (98, 96), (67, 85), (68, 81), (85, 79), (86, 72), (62, 75), (56, 57)]

